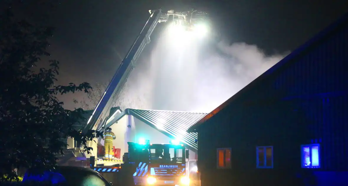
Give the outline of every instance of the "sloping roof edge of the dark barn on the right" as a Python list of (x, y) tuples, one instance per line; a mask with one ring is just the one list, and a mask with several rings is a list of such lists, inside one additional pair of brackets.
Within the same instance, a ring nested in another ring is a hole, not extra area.
[(289, 64), (292, 64), (296, 62), (296, 58), (306, 54), (310, 51), (311, 48), (317, 46), (320, 44), (323, 40), (325, 40), (327, 37), (331, 36), (335, 32), (339, 31), (343, 26), (348, 24), (348, 13), (344, 14), (339, 20), (329, 25), (326, 29), (319, 32), (316, 36), (308, 40), (306, 43), (295, 49), (291, 54), (284, 57), (284, 59), (280, 60), (278, 63), (273, 65), (270, 69), (268, 69), (266, 72), (262, 73), (259, 77), (254, 79), (250, 84), (242, 88), (239, 92), (237, 92), (235, 95), (233, 95), (231, 98), (229, 98), (227, 101), (222, 103), (219, 107), (215, 108), (213, 111), (211, 111), (209, 114), (207, 114), (205, 117), (200, 119), (197, 123), (192, 125), (188, 132), (197, 132), (196, 129), (201, 124), (206, 122), (209, 118), (216, 115), (219, 111), (227, 107), (229, 104), (240, 98), (243, 94), (245, 94), (247, 91), (251, 90), (252, 87), (255, 87), (259, 83), (261, 83), (264, 79), (272, 77), (272, 75), (275, 75), (275, 72), (281, 71), (282, 69), (286, 68)]

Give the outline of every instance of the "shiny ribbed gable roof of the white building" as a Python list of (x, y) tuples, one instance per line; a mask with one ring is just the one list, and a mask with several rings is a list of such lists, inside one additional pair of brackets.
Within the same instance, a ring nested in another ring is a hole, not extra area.
[[(119, 113), (117, 113), (119, 111)], [(190, 150), (197, 152), (198, 145), (195, 140), (197, 133), (188, 133), (187, 130), (193, 124), (206, 116), (206, 113), (190, 113), (166, 110), (139, 110), (119, 109), (108, 119), (105, 127), (109, 127), (119, 121), (125, 115), (132, 115), (140, 121), (150, 125), (170, 138), (179, 138)]]

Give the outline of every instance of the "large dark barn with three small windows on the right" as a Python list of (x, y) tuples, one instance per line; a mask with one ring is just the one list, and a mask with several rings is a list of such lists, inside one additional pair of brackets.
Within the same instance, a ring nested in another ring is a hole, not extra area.
[(348, 14), (190, 127), (201, 186), (347, 185), (347, 73)]

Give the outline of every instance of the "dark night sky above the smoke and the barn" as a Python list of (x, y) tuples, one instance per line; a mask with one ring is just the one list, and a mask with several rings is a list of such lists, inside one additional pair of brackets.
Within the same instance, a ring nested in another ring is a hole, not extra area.
[[(293, 51), (348, 11), (344, 0), (52, 0), (54, 8), (36, 2), (14, 8), (56, 27), (49, 50), (61, 61), (61, 84), (110, 79), (149, 9), (207, 11), (222, 38), (255, 44), (267, 54)], [(71, 99), (64, 99), (67, 108), (74, 107)]]

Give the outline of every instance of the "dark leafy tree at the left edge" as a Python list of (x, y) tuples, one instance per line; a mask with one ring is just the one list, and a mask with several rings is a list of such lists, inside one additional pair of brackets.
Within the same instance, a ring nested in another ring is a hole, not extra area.
[[(16, 177), (14, 168), (53, 169), (56, 156), (66, 148), (66, 139), (74, 137), (85, 147), (100, 135), (81, 132), (74, 124), (85, 119), (83, 110), (64, 109), (56, 95), (88, 92), (88, 83), (55, 85), (56, 60), (48, 68), (37, 68), (50, 56), (46, 52), (53, 29), (16, 21), (10, 11), (0, 17), (0, 175)], [(46, 62), (47, 63), (47, 62)]]

